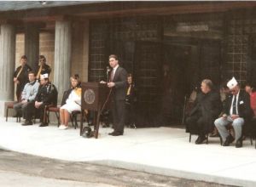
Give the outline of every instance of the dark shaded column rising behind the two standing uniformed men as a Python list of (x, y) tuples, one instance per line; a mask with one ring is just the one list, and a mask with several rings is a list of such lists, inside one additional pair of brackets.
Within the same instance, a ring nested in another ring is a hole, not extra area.
[(25, 29), (25, 54), (27, 64), (36, 71), (39, 55), (39, 27), (27, 25)]

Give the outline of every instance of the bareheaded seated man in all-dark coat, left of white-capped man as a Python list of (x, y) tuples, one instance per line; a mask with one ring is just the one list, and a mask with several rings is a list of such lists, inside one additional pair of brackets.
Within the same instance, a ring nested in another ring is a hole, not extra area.
[(186, 120), (187, 132), (198, 134), (195, 144), (202, 144), (207, 133), (212, 132), (213, 122), (221, 111), (221, 101), (218, 92), (212, 90), (212, 81), (201, 82), (201, 93), (197, 94), (194, 108)]

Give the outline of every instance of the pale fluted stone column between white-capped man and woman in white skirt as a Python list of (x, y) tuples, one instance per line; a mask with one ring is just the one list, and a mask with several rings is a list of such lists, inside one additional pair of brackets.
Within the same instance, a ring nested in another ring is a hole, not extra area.
[(55, 75), (54, 84), (58, 89), (58, 103), (62, 95), (70, 87), (71, 64), (71, 23), (61, 20), (55, 22)]

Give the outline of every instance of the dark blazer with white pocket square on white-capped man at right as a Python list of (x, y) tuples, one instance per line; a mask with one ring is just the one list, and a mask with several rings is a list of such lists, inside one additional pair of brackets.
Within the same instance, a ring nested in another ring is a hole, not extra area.
[[(231, 105), (232, 105), (232, 99), (233, 99), (233, 94), (229, 94), (228, 98), (226, 99), (226, 103), (224, 105), (224, 114), (230, 115), (230, 108), (231, 108)], [(250, 107), (250, 96), (249, 96), (249, 94), (247, 94), (243, 90), (240, 90), (237, 105), (238, 105), (237, 110), (238, 110), (239, 116), (241, 116), (245, 120), (249, 120), (253, 115), (252, 109)]]

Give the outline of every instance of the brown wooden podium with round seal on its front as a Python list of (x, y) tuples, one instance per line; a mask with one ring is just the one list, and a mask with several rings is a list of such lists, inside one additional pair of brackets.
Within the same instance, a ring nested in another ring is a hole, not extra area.
[(108, 102), (110, 89), (107, 84), (98, 82), (82, 82), (82, 101), (81, 101), (81, 120), (80, 120), (80, 135), (83, 130), (84, 110), (94, 111), (94, 136), (97, 139), (100, 126), (100, 116)]

